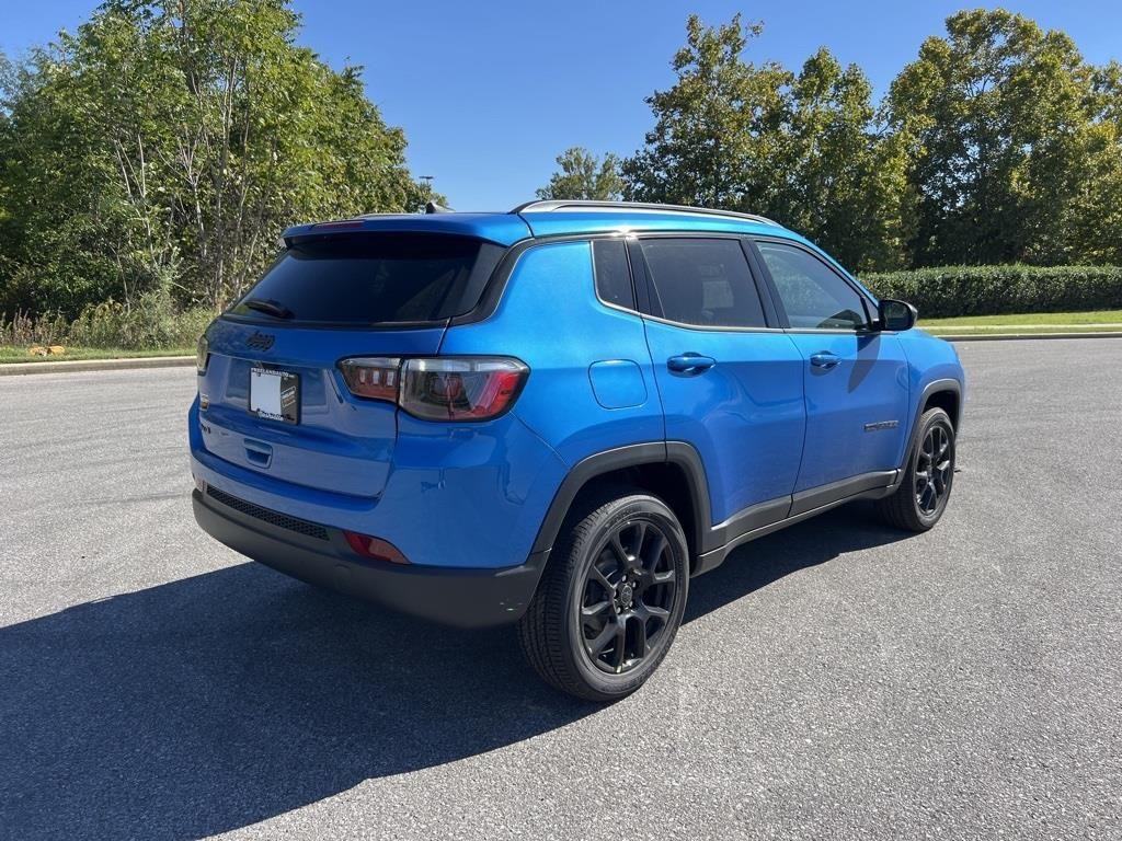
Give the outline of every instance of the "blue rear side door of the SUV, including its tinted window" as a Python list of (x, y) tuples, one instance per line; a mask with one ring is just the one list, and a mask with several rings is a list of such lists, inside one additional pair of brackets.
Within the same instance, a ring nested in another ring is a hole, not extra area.
[(636, 286), (666, 438), (701, 455), (709, 525), (736, 517), (729, 530), (739, 533), (781, 519), (802, 452), (802, 357), (769, 326), (744, 246), (650, 237), (632, 251), (649, 280)]

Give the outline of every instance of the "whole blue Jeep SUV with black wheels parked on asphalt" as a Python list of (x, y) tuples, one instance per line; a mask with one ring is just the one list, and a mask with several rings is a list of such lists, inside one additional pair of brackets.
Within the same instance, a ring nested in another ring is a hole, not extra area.
[(287, 230), (200, 340), (194, 512), (226, 545), (516, 623), (542, 677), (609, 701), (734, 547), (856, 499), (939, 520), (958, 359), (803, 238), (666, 205), (430, 211)]

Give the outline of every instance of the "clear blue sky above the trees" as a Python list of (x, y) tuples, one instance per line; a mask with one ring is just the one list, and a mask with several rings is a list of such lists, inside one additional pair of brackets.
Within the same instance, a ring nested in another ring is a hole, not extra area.
[[(367, 92), (392, 124), (405, 129), (417, 175), (460, 210), (505, 210), (533, 198), (554, 157), (569, 146), (629, 155), (651, 113), (643, 99), (672, 81), (690, 11), (723, 22), (742, 10), (763, 20), (749, 48), (756, 61), (798, 68), (828, 46), (856, 62), (877, 94), (914, 58), (920, 43), (942, 33), (947, 15), (1003, 6), (1067, 31), (1088, 61), (1122, 58), (1119, 0), (931, 0), (735, 3), (695, 0), (567, 0), (563, 3), (380, 2), (297, 0), (300, 41), (332, 66), (366, 67)], [(0, 49), (19, 56), (73, 29), (93, 0), (0, 0)]]

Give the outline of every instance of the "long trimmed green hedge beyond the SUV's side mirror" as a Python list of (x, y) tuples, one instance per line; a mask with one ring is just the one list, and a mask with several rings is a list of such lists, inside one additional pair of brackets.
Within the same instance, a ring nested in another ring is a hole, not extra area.
[(923, 318), (1122, 309), (1120, 266), (940, 266), (861, 278)]

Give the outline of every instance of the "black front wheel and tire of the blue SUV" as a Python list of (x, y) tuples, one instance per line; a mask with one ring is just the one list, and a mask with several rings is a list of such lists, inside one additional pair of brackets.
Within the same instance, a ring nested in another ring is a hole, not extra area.
[(947, 510), (954, 481), (955, 427), (946, 412), (928, 409), (919, 419), (900, 487), (877, 503), (881, 516), (896, 528), (927, 532)]

